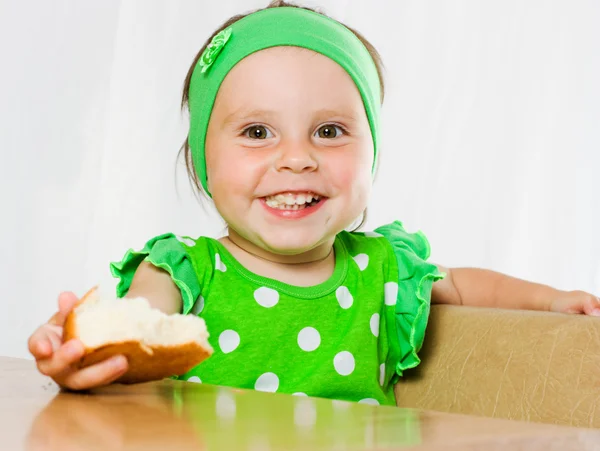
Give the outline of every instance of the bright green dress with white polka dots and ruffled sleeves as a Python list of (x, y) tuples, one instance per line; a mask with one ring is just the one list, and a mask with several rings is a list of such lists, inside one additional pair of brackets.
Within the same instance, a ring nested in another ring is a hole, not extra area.
[(395, 404), (393, 385), (415, 367), (431, 287), (443, 277), (423, 234), (400, 222), (342, 232), (324, 283), (297, 287), (244, 268), (217, 240), (164, 234), (111, 264), (117, 296), (138, 265), (166, 270), (184, 314), (206, 321), (214, 354), (177, 378), (267, 392)]

